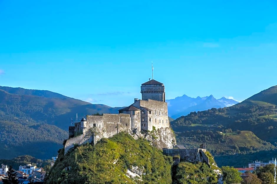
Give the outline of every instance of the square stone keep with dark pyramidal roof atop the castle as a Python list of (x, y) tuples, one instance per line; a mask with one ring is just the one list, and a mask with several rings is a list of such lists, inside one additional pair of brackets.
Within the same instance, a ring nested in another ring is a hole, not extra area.
[(154, 79), (141, 84), (141, 99), (165, 102), (164, 84)]

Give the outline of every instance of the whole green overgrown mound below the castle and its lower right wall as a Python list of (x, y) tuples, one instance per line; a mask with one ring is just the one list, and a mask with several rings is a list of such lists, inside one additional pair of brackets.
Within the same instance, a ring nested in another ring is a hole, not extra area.
[(172, 164), (172, 157), (163, 155), (148, 141), (121, 132), (95, 146), (75, 146), (65, 156), (60, 149), (45, 183), (168, 184), (172, 178), (173, 183), (217, 183), (217, 174), (206, 163)]

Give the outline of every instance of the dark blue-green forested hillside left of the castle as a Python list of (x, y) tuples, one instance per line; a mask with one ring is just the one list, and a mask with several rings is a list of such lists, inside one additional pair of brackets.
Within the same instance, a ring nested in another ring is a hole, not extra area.
[(0, 86), (0, 155), (10, 159), (27, 154), (40, 159), (55, 156), (68, 138), (76, 113), (118, 113), (120, 107), (90, 104), (45, 91)]

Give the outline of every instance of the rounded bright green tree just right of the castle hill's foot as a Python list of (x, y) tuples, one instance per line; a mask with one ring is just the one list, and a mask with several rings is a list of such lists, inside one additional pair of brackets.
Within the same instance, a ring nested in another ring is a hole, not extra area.
[(240, 172), (234, 169), (234, 167), (223, 166), (222, 168), (223, 181), (225, 183), (240, 183), (242, 178), (240, 178)]

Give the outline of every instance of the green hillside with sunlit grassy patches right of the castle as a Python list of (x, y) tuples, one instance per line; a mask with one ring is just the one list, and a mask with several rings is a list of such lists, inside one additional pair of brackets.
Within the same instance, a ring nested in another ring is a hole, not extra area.
[(177, 143), (187, 147), (206, 143), (217, 156), (271, 150), (277, 146), (276, 105), (277, 86), (273, 86), (232, 107), (191, 112), (171, 125)]

